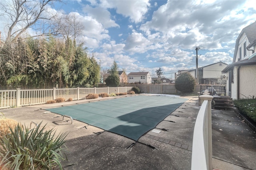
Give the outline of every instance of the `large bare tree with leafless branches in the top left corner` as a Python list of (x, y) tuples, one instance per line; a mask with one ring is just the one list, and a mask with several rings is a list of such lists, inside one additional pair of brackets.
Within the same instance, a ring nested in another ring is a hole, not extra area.
[(56, 16), (55, 12), (51, 12), (50, 6), (53, 2), (61, 2), (61, 0), (1, 0), (0, 16), (6, 17), (9, 23), (6, 42), (16, 41), (28, 28), (38, 29), (36, 24), (41, 25), (40, 35), (56, 34), (49, 32), (51, 24), (49, 21)]

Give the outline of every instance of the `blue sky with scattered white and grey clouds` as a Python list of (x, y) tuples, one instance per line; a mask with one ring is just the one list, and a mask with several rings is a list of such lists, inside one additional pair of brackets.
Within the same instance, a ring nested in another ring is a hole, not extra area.
[(236, 38), (256, 21), (254, 0), (64, 0), (53, 10), (76, 13), (79, 39), (102, 69), (116, 61), (126, 73), (178, 70), (232, 63)]

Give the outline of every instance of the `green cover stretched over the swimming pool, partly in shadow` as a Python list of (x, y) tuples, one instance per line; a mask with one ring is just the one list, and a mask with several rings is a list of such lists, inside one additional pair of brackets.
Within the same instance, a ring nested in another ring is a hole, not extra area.
[(187, 99), (138, 95), (45, 109), (137, 141)]

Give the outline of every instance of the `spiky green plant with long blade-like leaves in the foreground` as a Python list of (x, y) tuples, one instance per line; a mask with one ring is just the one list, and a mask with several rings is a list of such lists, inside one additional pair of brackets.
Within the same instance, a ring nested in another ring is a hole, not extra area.
[[(42, 123), (42, 122), (41, 122)], [(13, 170), (51, 170), (64, 160), (66, 133), (55, 136), (55, 130), (46, 130), (41, 123), (32, 129), (18, 124), (11, 133), (0, 139), (0, 167)], [(63, 148), (64, 146), (64, 148)]]

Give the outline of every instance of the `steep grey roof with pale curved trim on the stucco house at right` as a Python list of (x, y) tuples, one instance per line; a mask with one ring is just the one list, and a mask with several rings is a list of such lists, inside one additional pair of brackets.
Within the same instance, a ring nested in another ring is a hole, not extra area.
[(239, 40), (244, 33), (246, 34), (246, 37), (248, 38), (249, 43), (255, 43), (255, 41), (256, 41), (256, 21), (254, 23), (246, 26), (244, 29), (242, 29), (241, 33), (239, 34), (238, 38), (236, 39), (236, 47), (235, 47), (235, 51), (234, 51), (233, 63), (236, 62), (236, 54), (238, 51)]

